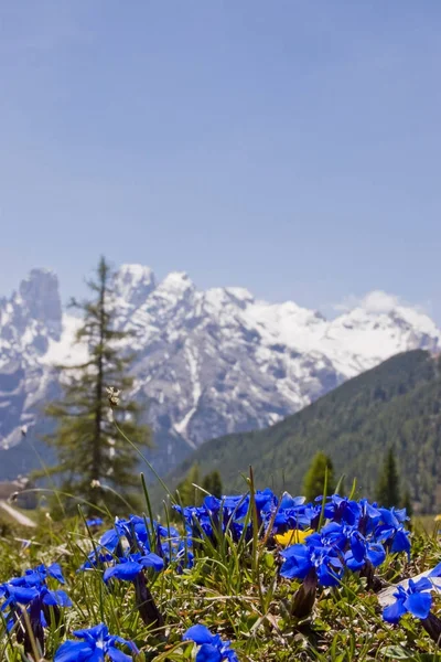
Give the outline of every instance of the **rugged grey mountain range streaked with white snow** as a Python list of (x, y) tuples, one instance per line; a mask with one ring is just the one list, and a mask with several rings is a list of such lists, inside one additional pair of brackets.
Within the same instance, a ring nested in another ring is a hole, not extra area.
[[(273, 424), (392, 354), (441, 348), (428, 316), (397, 302), (375, 306), (376, 292), (326, 320), (243, 288), (201, 291), (182, 273), (157, 284), (140, 265), (123, 265), (115, 289), (118, 328), (135, 332), (127, 342), (137, 353), (136, 392), (148, 402), (160, 440), (152, 458), (162, 468), (209, 438)], [(3, 448), (20, 442), (21, 426), (41, 424), (39, 405), (57, 388), (51, 366), (84, 357), (72, 346), (77, 325), (62, 312), (51, 271), (34, 269), (19, 292), (0, 299)]]

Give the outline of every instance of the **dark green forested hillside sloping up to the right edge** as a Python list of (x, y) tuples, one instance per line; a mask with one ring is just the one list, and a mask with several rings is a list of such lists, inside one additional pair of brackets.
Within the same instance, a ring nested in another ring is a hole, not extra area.
[(402, 488), (418, 510), (433, 512), (441, 509), (439, 369), (440, 357), (428, 352), (398, 354), (270, 428), (204, 444), (165, 482), (175, 487), (197, 462), (202, 474), (219, 471), (226, 492), (240, 490), (241, 472), (251, 465), (259, 487), (297, 493), (313, 456), (323, 450), (337, 476), (345, 473), (346, 482), (355, 477), (359, 490), (373, 496), (394, 446)]

